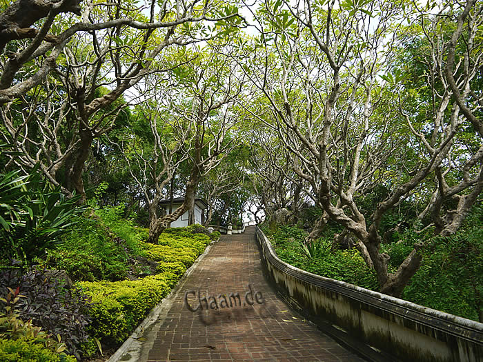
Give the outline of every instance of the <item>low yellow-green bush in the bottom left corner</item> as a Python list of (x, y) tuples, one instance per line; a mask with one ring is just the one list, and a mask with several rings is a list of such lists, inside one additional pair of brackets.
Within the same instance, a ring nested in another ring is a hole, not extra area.
[(35, 339), (0, 339), (0, 361), (76, 362), (77, 359), (53, 352)]

